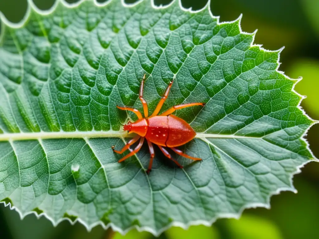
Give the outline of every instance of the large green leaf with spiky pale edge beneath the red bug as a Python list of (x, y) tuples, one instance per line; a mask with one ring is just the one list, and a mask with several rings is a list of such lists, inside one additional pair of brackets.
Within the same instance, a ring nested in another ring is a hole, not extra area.
[[(295, 191), (292, 175), (313, 159), (302, 138), (313, 121), (299, 108), (295, 80), (278, 72), (279, 51), (253, 45), (240, 19), (219, 23), (209, 4), (190, 12), (179, 2), (113, 0), (38, 10), (29, 1), (24, 23), (1, 16), (0, 200), (21, 216), (37, 208), (54, 224), (80, 221), (155, 235), (171, 225), (211, 225), (247, 207), (269, 207), (270, 196)], [(173, 155), (147, 145), (123, 163), (111, 146), (127, 140), (121, 125), (152, 112), (167, 84), (163, 110), (176, 112), (197, 137)], [(128, 117), (129, 116), (129, 117)]]

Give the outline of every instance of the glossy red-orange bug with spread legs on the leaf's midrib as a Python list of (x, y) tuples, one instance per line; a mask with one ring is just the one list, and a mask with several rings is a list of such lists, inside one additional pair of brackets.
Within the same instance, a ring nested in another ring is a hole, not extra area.
[(148, 116), (148, 107), (145, 99), (143, 98), (143, 89), (144, 89), (144, 80), (145, 75), (142, 79), (142, 83), (140, 86), (140, 92), (139, 92), (139, 99), (142, 102), (143, 109), (144, 109), (144, 116), (142, 117), (141, 112), (139, 112), (137, 109), (129, 108), (129, 107), (120, 107), (116, 106), (117, 108), (121, 110), (129, 110), (134, 112), (138, 120), (131, 123), (128, 122), (126, 125), (124, 125), (124, 130), (128, 130), (130, 133), (136, 133), (137, 135), (132, 138), (123, 148), (121, 151), (115, 150), (115, 146), (112, 146), (112, 149), (114, 152), (118, 154), (124, 153), (127, 149), (130, 148), (132, 144), (134, 144), (138, 139), (140, 139), (139, 144), (137, 147), (131, 151), (126, 156), (122, 157), (118, 162), (121, 163), (125, 159), (129, 158), (130, 156), (136, 154), (143, 145), (144, 139), (146, 139), (148, 147), (150, 149), (151, 159), (148, 166), (148, 169), (146, 170), (147, 174), (150, 173), (152, 169), (152, 163), (153, 158), (155, 156), (154, 154), (154, 148), (152, 143), (156, 144), (159, 149), (164, 153), (166, 157), (173, 160), (178, 167), (183, 168), (181, 164), (179, 164), (175, 159), (172, 158), (172, 156), (168, 153), (168, 151), (163, 147), (171, 148), (176, 154), (181, 155), (186, 158), (190, 158), (192, 160), (202, 160), (200, 158), (191, 157), (185, 153), (183, 153), (181, 150), (175, 148), (178, 146), (181, 146), (192, 139), (194, 139), (196, 133), (195, 131), (189, 126), (189, 124), (182, 120), (181, 118), (178, 118), (175, 115), (172, 115), (172, 113), (175, 110), (183, 109), (186, 107), (194, 106), (194, 105), (202, 105), (204, 106), (204, 103), (189, 103), (184, 105), (175, 105), (172, 108), (168, 109), (167, 111), (161, 113), (160, 115), (157, 115), (164, 104), (165, 100), (167, 99), (169, 90), (172, 87), (173, 82), (171, 81), (165, 91), (164, 96), (160, 99), (158, 105), (156, 106), (154, 112), (151, 116)]

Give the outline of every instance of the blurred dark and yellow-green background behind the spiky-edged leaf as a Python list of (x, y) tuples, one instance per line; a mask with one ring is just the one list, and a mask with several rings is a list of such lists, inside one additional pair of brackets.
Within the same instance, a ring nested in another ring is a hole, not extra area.
[[(40, 9), (49, 9), (55, 0), (34, 0)], [(67, 2), (77, 2), (69, 0)], [(98, 0), (98, 2), (104, 2)], [(127, 3), (135, 2), (127, 0)], [(154, 0), (156, 5), (171, 0)], [(182, 0), (185, 8), (202, 8), (207, 0)], [(0, 11), (12, 22), (23, 18), (27, 0), (0, 0)], [(243, 13), (241, 28), (253, 32), (258, 28), (255, 43), (268, 50), (282, 46), (279, 70), (291, 78), (303, 76), (295, 90), (307, 98), (301, 106), (310, 117), (319, 120), (319, 0), (211, 0), (213, 15), (220, 21), (231, 21)], [(319, 157), (319, 124), (307, 135), (310, 149)], [(256, 208), (244, 211), (241, 219), (220, 219), (211, 227), (192, 226), (188, 230), (171, 228), (159, 238), (318, 238), (319, 223), (319, 163), (308, 163), (293, 178), (298, 194), (281, 192), (271, 198), (271, 209)], [(20, 220), (16, 211), (0, 204), (1, 239), (50, 239), (50, 238), (153, 238), (150, 233), (130, 231), (125, 236), (104, 231), (101, 226), (87, 232), (80, 223), (71, 226), (63, 221), (56, 228), (51, 222), (35, 215)]]

